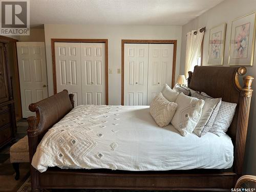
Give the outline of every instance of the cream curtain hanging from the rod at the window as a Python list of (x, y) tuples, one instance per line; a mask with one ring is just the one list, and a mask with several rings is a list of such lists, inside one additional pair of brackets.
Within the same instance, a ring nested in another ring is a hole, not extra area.
[(201, 57), (201, 45), (204, 37), (204, 30), (200, 32), (193, 30), (187, 33), (186, 46), (186, 62), (185, 62), (185, 76), (188, 77), (188, 71), (193, 71), (194, 67), (198, 65), (198, 58)]

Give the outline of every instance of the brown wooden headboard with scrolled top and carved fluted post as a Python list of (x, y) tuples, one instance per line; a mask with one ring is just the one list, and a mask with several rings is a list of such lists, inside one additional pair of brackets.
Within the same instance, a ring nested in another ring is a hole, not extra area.
[(245, 67), (211, 67), (196, 66), (188, 72), (188, 87), (205, 92), (211, 97), (222, 98), (223, 101), (237, 103), (236, 113), (227, 134), (234, 144), (234, 172), (242, 173), (245, 141), (252, 96), (251, 83), (253, 77), (243, 77), (243, 87), (239, 76), (246, 74)]

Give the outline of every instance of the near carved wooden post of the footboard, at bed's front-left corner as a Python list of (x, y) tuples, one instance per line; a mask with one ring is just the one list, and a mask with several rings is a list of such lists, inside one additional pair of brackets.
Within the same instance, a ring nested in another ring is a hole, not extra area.
[(39, 178), (38, 178), (38, 170), (36, 170), (32, 165), (32, 158), (36, 152), (36, 147), (38, 145), (37, 138), (37, 126), (36, 126), (36, 117), (31, 116), (27, 119), (29, 123), (28, 127), (28, 140), (29, 140), (29, 161), (30, 161), (30, 172), (31, 172), (31, 188), (32, 191), (39, 191)]

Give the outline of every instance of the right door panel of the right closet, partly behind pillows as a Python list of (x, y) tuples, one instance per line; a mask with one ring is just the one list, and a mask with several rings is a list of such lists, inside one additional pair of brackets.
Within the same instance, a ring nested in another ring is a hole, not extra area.
[(164, 83), (172, 85), (173, 51), (173, 44), (150, 44), (147, 105), (162, 90)]

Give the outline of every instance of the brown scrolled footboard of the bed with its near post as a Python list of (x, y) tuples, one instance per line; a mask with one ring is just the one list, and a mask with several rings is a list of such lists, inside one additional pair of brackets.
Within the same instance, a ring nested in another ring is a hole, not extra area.
[[(45, 133), (74, 108), (74, 95), (67, 90), (29, 105), (29, 110), (36, 112), (36, 117), (29, 117), (28, 139), (30, 163)], [(39, 172), (31, 165), (32, 191), (38, 191)]]

